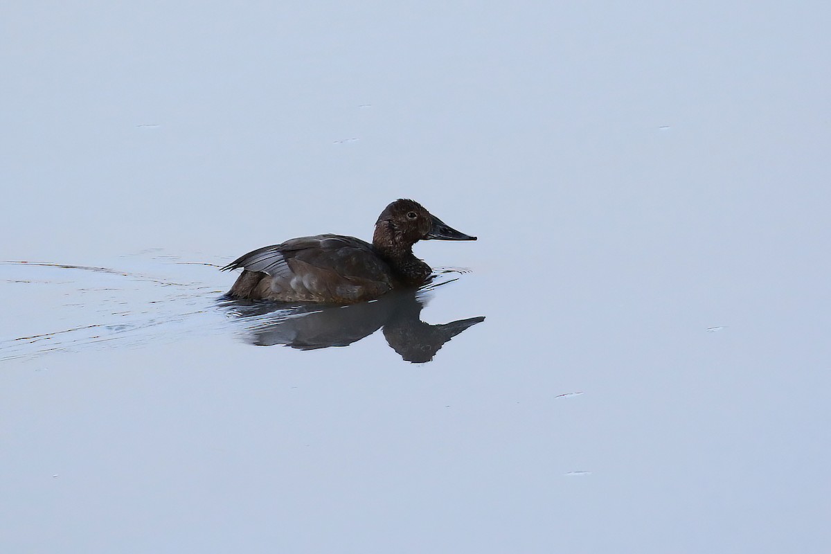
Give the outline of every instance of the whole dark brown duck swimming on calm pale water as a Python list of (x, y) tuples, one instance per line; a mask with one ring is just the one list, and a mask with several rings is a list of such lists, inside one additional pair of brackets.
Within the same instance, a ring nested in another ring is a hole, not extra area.
[(258, 248), (222, 267), (243, 272), (225, 295), (238, 300), (348, 305), (429, 282), (433, 270), (413, 254), (420, 240), (475, 241), (398, 199), (378, 216), (372, 243), (336, 234), (292, 238)]

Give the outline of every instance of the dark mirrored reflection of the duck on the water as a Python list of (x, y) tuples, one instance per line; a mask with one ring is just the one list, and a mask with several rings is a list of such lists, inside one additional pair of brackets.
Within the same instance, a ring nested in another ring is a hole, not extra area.
[(484, 316), (430, 325), (421, 321), (424, 291), (390, 292), (349, 306), (230, 301), (224, 305), (246, 321), (247, 340), (257, 346), (284, 345), (298, 350), (349, 346), (383, 327), (387, 344), (412, 363), (433, 359), (445, 342)]

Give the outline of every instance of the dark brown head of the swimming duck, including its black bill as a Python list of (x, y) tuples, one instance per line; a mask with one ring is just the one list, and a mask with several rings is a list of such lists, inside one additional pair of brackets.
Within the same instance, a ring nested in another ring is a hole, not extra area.
[(415, 200), (399, 199), (384, 208), (375, 223), (372, 243), (409, 250), (420, 240), (476, 240), (456, 231)]

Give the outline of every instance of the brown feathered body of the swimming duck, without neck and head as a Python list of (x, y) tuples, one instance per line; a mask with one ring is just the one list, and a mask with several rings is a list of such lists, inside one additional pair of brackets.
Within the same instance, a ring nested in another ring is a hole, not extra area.
[(349, 304), (393, 287), (391, 267), (370, 243), (324, 234), (248, 252), (223, 269), (243, 268), (229, 296), (279, 302)]

